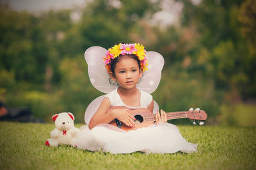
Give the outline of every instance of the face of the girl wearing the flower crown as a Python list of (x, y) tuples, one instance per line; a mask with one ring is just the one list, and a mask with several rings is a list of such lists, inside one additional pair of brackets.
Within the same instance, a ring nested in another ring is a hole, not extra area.
[(115, 76), (113, 73), (110, 73), (110, 76), (121, 88), (130, 90), (136, 88), (142, 73), (136, 60), (124, 57), (116, 63)]

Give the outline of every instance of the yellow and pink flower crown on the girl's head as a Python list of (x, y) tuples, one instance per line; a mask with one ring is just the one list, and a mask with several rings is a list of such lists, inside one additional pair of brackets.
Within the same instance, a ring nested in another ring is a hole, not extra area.
[(140, 45), (140, 43), (135, 44), (118, 44), (108, 49), (108, 52), (106, 53), (106, 56), (103, 57), (103, 61), (106, 65), (106, 69), (108, 73), (111, 71), (111, 60), (115, 59), (116, 57), (119, 57), (120, 55), (125, 54), (134, 54), (137, 56), (138, 60), (140, 60), (140, 66), (143, 69), (143, 72), (145, 70), (148, 70), (146, 66), (148, 66), (148, 60), (146, 57), (146, 50), (144, 49), (143, 45)]

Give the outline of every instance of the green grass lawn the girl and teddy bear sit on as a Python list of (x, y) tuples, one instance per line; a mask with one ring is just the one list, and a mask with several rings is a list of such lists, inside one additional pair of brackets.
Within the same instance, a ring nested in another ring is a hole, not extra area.
[[(76, 125), (81, 127), (81, 124)], [(256, 127), (178, 126), (198, 152), (117, 154), (47, 147), (54, 124), (0, 122), (1, 169), (256, 169)], [(159, 143), (161, 145), (161, 143)]]

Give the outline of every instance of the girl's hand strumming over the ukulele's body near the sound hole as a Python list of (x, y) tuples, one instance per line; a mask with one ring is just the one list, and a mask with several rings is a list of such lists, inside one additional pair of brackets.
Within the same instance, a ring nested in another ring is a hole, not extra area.
[(113, 113), (114, 117), (120, 120), (121, 122), (124, 122), (125, 125), (127, 126), (133, 126), (135, 125), (134, 118), (131, 113), (128, 112), (129, 109), (115, 109), (112, 110), (111, 112)]

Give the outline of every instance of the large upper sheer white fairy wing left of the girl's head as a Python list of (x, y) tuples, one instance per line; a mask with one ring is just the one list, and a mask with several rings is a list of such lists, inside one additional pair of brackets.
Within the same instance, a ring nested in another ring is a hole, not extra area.
[(88, 64), (88, 74), (92, 85), (100, 92), (109, 93), (116, 87), (109, 83), (109, 74), (103, 62), (106, 55), (105, 48), (92, 46), (84, 52), (84, 58)]

